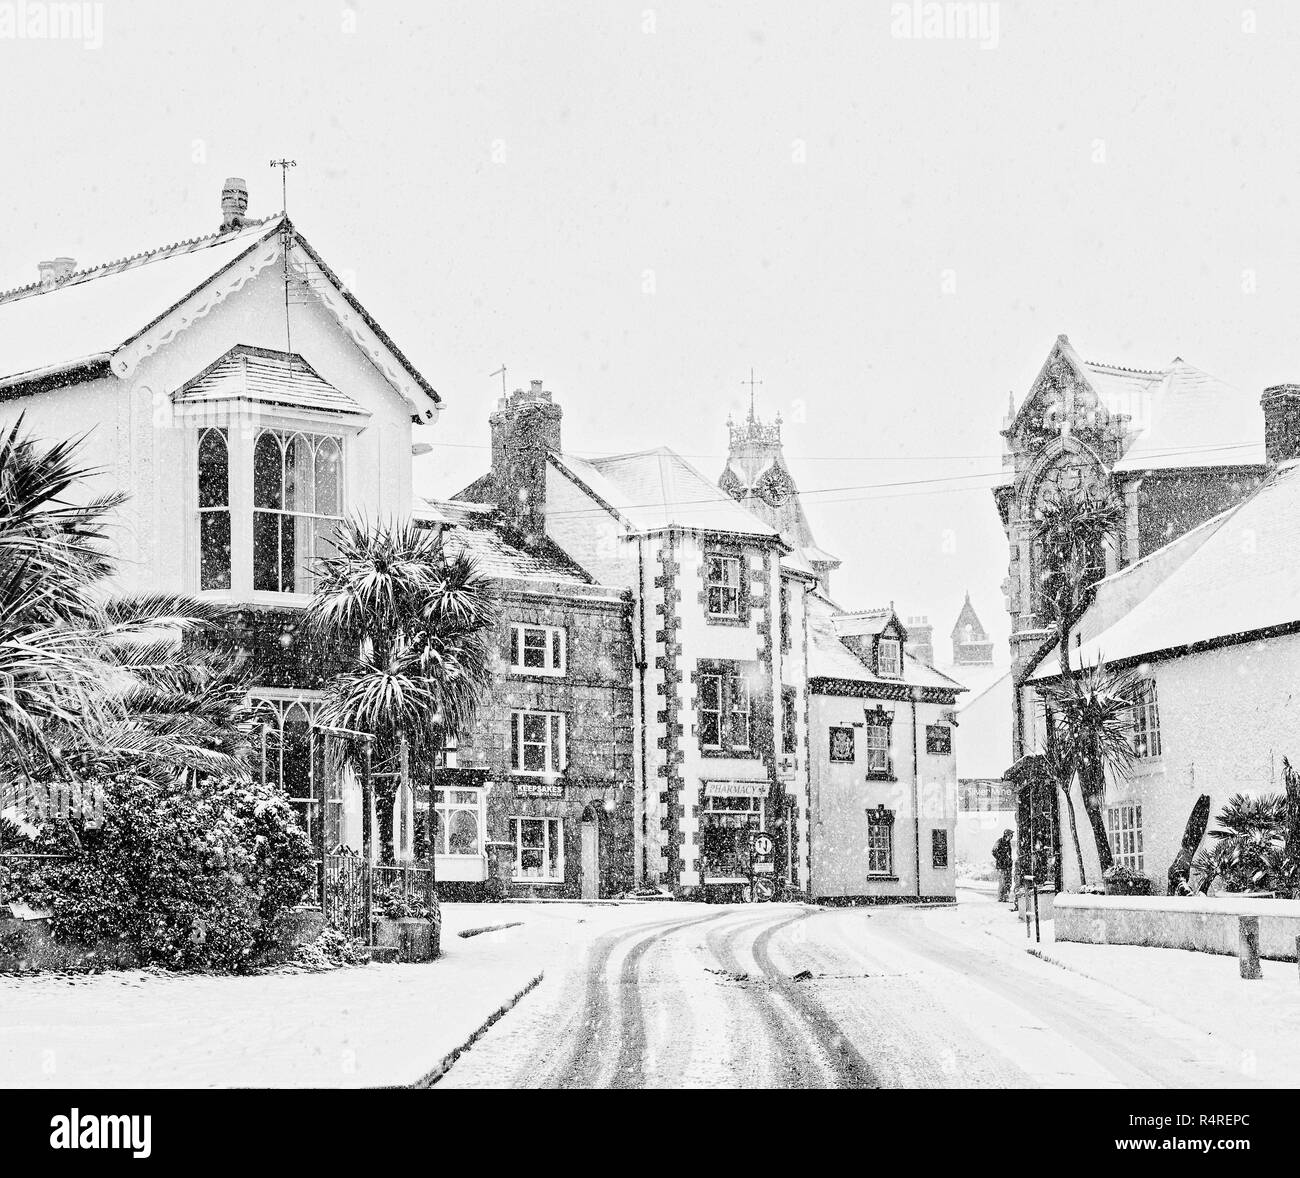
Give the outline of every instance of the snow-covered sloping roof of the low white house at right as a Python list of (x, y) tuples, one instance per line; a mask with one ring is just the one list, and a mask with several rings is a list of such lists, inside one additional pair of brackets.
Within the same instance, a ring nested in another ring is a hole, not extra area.
[[(1300, 465), (1097, 582), (1072, 667), (1182, 653), (1300, 623)], [(1082, 662), (1080, 662), (1082, 661)], [(1049, 651), (1030, 676), (1058, 674)]]

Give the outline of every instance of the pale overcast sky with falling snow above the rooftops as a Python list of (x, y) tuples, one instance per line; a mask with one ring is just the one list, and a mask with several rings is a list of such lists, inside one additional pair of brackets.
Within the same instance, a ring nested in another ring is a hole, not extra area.
[(445, 398), (428, 494), (486, 467), (502, 363), (566, 449), (710, 477), (753, 365), (835, 596), (946, 635), (968, 588), (1002, 638), (983, 476), (1058, 333), (1300, 378), (1300, 5), (84, 8), (16, 39), (0, 0), (0, 289), (212, 231), (226, 176), (274, 212), (294, 157), (290, 215)]

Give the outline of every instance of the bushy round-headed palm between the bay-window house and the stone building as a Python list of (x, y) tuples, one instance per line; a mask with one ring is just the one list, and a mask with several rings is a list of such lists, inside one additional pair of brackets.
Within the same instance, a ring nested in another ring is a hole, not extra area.
[[(404, 742), (415, 761), (433, 765), (443, 733), (468, 727), (491, 685), (495, 620), (490, 582), (472, 558), (448, 554), (437, 532), (411, 521), (342, 524), (334, 551), (317, 560), (307, 607), (309, 628), (344, 664), (326, 689), (322, 723), (370, 733), (390, 758)], [(378, 806), (385, 848), (394, 794), (387, 788)]]

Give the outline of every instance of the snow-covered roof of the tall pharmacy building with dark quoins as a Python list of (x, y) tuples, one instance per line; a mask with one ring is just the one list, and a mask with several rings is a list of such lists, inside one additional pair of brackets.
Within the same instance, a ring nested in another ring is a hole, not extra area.
[(552, 454), (551, 460), (637, 532), (685, 528), (779, 538), (775, 528), (667, 447), (597, 459)]

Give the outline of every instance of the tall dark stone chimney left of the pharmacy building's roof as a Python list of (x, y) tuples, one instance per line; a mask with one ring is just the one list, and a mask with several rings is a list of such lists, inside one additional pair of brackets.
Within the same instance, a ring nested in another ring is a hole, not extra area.
[(546, 455), (560, 449), (563, 411), (541, 381), (497, 402), (491, 473), (503, 523), (525, 543), (546, 538)]

